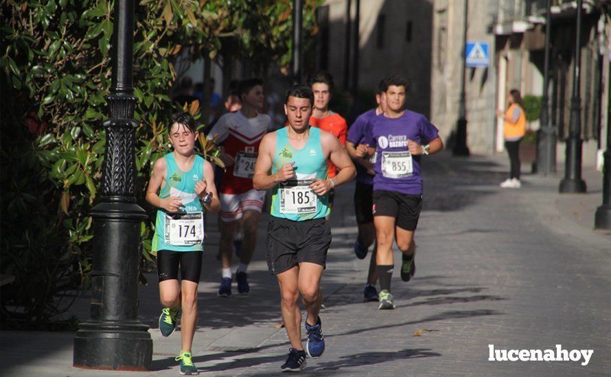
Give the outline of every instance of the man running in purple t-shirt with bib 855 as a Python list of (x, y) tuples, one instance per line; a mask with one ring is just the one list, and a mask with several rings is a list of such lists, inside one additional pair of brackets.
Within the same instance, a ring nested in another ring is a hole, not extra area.
[[(437, 128), (426, 117), (405, 110), (408, 84), (402, 77), (385, 82), (382, 96), (387, 110), (371, 120), (365, 144), (369, 153), (377, 153), (373, 178), (373, 224), (378, 239), (378, 279), (380, 309), (393, 309), (391, 277), (393, 275), (393, 238), (403, 253), (401, 279), (410, 280), (415, 273), (413, 241), (422, 208), (422, 175), (420, 157), (443, 149)], [(376, 146), (375, 149), (372, 146)]]

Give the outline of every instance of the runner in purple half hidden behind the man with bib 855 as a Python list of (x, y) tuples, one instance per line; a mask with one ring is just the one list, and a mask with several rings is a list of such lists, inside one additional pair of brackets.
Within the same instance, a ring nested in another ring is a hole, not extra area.
[[(373, 158), (365, 158), (367, 148), (362, 145), (366, 135), (366, 128), (369, 121), (382, 114), (386, 108), (386, 103), (382, 101), (382, 84), (378, 86), (376, 102), (378, 107), (360, 114), (356, 121), (352, 123), (348, 130), (346, 150), (356, 166), (356, 186), (354, 188), (354, 213), (358, 225), (358, 236), (354, 242), (354, 254), (359, 259), (365, 259), (369, 246), (376, 241), (376, 228), (373, 226)], [(360, 146), (360, 147), (359, 147)], [(371, 260), (369, 261), (369, 273), (367, 274), (367, 284), (363, 296), (365, 301), (378, 301), (378, 290), (376, 290), (376, 245), (373, 246)]]

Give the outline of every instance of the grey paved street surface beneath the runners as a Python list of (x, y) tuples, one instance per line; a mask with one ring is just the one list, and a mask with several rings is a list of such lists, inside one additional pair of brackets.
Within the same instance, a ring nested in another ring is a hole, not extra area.
[[(426, 158), (424, 208), (416, 234), (417, 275), (393, 277), (395, 311), (362, 302), (367, 260), (356, 260), (353, 184), (332, 213), (334, 240), (323, 276), (327, 350), (305, 372), (342, 376), (603, 376), (611, 369), (611, 234), (592, 230), (601, 175), (584, 169), (589, 193), (560, 195), (562, 174), (524, 175), (520, 190), (500, 189), (505, 156)], [(525, 169), (524, 169), (525, 170)], [(559, 166), (559, 171), (563, 171)], [(251, 265), (251, 295), (216, 297), (220, 271), (212, 234), (200, 284), (193, 348), (200, 374), (268, 376), (288, 351), (279, 328), (275, 278), (264, 262), (266, 219)], [(209, 228), (210, 229), (210, 228)], [(214, 227), (213, 227), (214, 229)], [(395, 250), (398, 265), (400, 254)], [(153, 371), (73, 369), (72, 333), (0, 332), (4, 376), (176, 376), (180, 333), (157, 331), (154, 274), (141, 287), (141, 320), (151, 326)], [(235, 291), (235, 286), (234, 286)], [(87, 319), (87, 299), (73, 308)], [(428, 331), (424, 331), (426, 329)], [(418, 337), (417, 330), (423, 330)], [(579, 362), (488, 361), (496, 349), (593, 349)]]

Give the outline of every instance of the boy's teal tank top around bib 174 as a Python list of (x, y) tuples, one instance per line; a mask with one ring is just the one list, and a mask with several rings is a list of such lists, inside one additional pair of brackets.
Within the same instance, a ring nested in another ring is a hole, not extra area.
[[(189, 171), (182, 171), (176, 164), (173, 153), (166, 154), (165, 158), (165, 185), (159, 191), (159, 197), (165, 199), (170, 196), (181, 197), (183, 206), (180, 212), (203, 212), (197, 194), (195, 184), (204, 178), (205, 160), (196, 155), (193, 166)], [(198, 245), (168, 245), (165, 243), (165, 213), (162, 208), (157, 210), (157, 220), (155, 221), (155, 234), (151, 243), (151, 250), (171, 250), (174, 252), (201, 252), (204, 250), (203, 243)]]

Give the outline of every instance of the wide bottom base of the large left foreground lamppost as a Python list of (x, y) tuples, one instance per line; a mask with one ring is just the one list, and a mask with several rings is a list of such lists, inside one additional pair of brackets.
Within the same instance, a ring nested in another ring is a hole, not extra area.
[(87, 321), (74, 338), (76, 368), (148, 371), (151, 360), (152, 339), (140, 322)]

